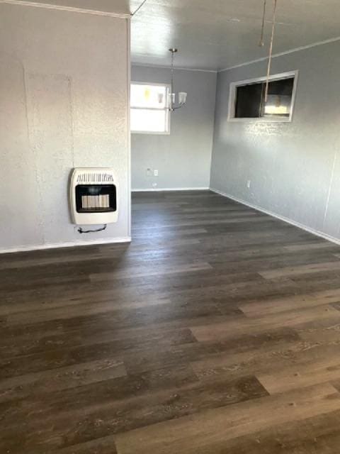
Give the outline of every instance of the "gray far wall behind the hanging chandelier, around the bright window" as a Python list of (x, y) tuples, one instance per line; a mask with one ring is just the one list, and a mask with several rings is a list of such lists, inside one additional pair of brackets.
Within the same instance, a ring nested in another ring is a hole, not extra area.
[[(132, 66), (131, 79), (169, 83), (170, 71)], [(209, 187), (216, 73), (176, 70), (175, 85), (188, 103), (171, 114), (170, 135), (132, 134), (132, 190)], [(148, 177), (147, 168), (159, 177)]]

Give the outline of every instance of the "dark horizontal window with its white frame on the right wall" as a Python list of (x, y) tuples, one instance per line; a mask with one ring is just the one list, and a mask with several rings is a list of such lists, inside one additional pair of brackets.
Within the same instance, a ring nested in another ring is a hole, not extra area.
[(296, 72), (270, 77), (265, 101), (266, 77), (230, 84), (229, 120), (291, 121)]

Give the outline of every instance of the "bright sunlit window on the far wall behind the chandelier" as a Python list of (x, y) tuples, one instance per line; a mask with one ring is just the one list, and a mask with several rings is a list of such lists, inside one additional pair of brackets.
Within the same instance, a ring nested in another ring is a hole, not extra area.
[(170, 112), (167, 108), (169, 90), (167, 84), (131, 83), (132, 133), (170, 133)]

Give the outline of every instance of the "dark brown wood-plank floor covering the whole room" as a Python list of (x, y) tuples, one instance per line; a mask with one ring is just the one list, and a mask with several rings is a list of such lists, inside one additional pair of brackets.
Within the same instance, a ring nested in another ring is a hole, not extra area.
[(212, 192), (0, 256), (1, 454), (339, 454), (340, 248)]

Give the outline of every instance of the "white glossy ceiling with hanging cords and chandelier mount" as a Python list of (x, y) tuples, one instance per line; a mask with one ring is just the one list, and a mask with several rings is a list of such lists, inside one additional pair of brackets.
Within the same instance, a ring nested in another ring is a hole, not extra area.
[[(0, 0), (1, 1), (1, 0)], [(142, 0), (35, 0), (128, 14)], [(266, 45), (259, 48), (263, 0), (146, 0), (132, 17), (132, 62), (220, 70), (266, 57), (273, 0), (267, 0)], [(340, 0), (278, 0), (274, 53), (340, 36)]]

